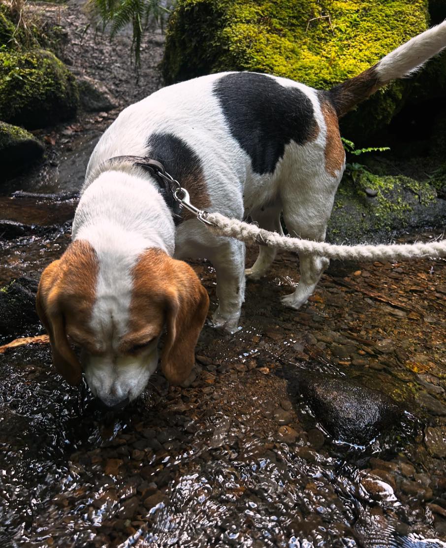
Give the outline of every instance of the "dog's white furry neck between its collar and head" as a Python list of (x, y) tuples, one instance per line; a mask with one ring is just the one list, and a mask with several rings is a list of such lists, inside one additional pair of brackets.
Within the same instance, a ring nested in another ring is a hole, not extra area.
[(124, 167), (100, 173), (84, 185), (72, 239), (85, 239), (96, 253), (138, 256), (147, 248), (175, 250), (175, 226), (155, 179)]

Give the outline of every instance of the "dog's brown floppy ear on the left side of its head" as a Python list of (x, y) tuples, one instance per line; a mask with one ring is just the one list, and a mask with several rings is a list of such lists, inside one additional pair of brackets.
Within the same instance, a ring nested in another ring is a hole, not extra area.
[(49, 334), (53, 363), (58, 372), (70, 383), (81, 380), (82, 367), (68, 344), (65, 320), (60, 310), (62, 292), (61, 261), (52, 262), (43, 271), (36, 298), (37, 313)]

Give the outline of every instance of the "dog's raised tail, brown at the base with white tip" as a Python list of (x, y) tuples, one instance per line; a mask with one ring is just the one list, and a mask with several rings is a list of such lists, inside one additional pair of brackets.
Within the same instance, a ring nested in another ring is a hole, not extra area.
[(344, 116), (383, 85), (410, 76), (443, 48), (446, 48), (446, 21), (400, 45), (360, 75), (331, 88), (329, 94), (338, 117)]

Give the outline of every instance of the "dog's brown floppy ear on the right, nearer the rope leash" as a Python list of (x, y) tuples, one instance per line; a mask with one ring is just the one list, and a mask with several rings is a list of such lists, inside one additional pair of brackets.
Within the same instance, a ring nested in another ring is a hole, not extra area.
[(161, 367), (169, 383), (180, 384), (195, 363), (195, 345), (208, 313), (209, 296), (189, 265), (172, 262), (175, 282), (166, 295), (167, 337)]

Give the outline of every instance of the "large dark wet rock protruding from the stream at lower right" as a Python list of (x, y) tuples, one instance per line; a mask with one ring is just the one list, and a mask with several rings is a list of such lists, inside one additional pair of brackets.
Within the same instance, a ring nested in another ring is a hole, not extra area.
[(331, 435), (348, 443), (370, 441), (395, 425), (401, 413), (385, 393), (345, 378), (308, 374), (299, 390)]

